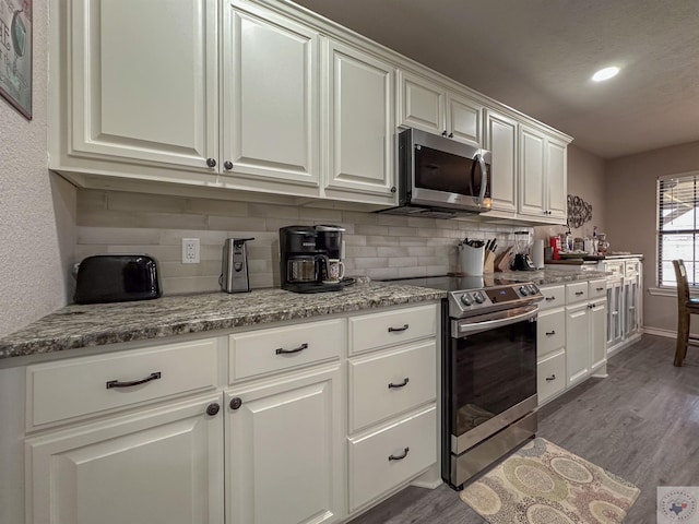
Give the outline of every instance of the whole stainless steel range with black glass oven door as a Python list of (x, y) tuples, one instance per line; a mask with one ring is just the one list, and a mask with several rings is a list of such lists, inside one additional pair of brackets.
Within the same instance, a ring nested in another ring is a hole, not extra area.
[(536, 319), (531, 282), (402, 281), (449, 291), (442, 303), (442, 478), (463, 484), (536, 432)]

